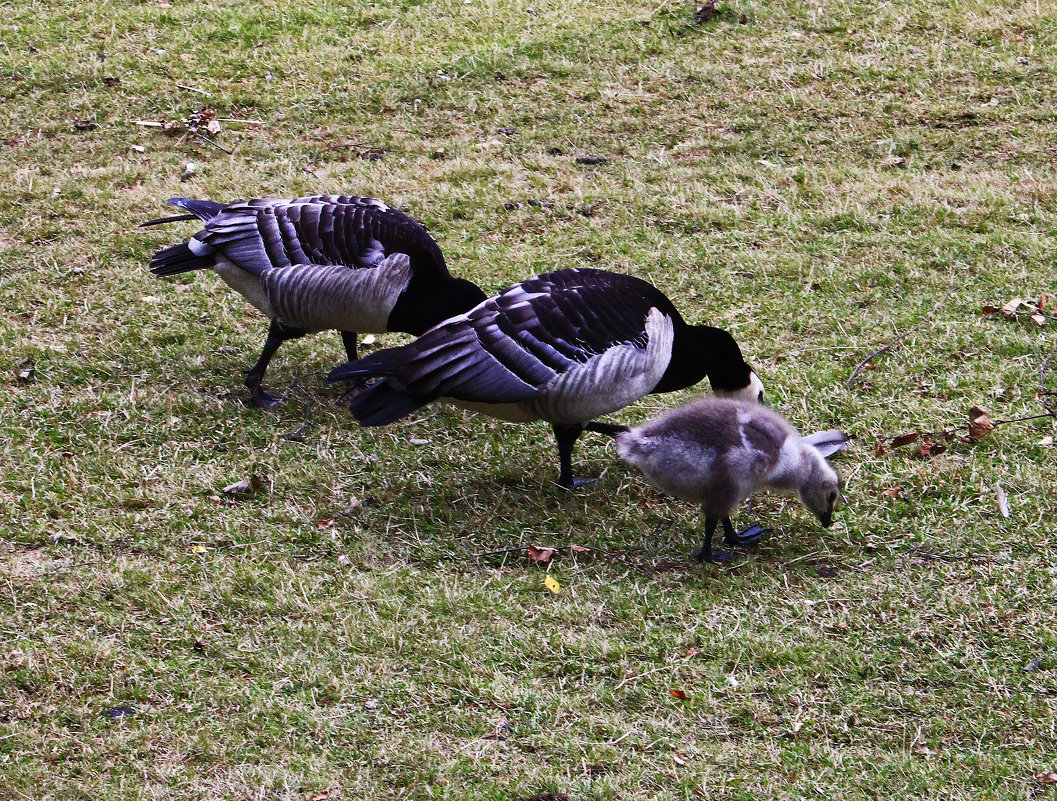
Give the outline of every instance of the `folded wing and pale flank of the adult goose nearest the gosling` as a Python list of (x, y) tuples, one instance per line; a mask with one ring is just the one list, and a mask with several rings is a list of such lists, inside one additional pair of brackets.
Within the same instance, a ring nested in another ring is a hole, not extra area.
[(397, 380), (426, 402), (534, 402), (554, 422), (618, 409), (647, 394), (671, 356), (672, 320), (646, 287), (664, 298), (604, 271), (515, 284), (406, 346)]

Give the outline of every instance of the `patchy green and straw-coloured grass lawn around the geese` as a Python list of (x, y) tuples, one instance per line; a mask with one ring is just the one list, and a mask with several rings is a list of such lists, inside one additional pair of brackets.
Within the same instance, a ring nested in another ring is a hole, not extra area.
[[(1053, 422), (876, 444), (1041, 411), (1057, 323), (980, 308), (1057, 284), (1057, 15), (693, 11), (4, 6), (0, 797), (1053, 795)], [(137, 125), (203, 107), (261, 123), (222, 122), (233, 155)], [(212, 276), (151, 279), (191, 228), (135, 226), (172, 195), (322, 191), (406, 207), (488, 290), (648, 277), (799, 427), (854, 435), (849, 505), (823, 532), (758, 498), (739, 519), (776, 534), (702, 569), (693, 509), (600, 440), (567, 498), (542, 426), (358, 429), (333, 334), (245, 408), (263, 322)], [(618, 558), (477, 556), (570, 543)]]

